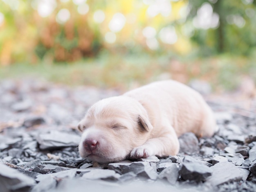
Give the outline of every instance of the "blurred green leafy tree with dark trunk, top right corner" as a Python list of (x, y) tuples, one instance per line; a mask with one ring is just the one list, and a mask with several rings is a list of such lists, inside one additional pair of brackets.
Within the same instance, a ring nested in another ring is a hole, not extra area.
[[(202, 48), (203, 55), (223, 52), (246, 55), (256, 46), (254, 0), (189, 0), (189, 7), (187, 20), (195, 26), (191, 39)], [(207, 26), (214, 19), (218, 19), (218, 25)]]

